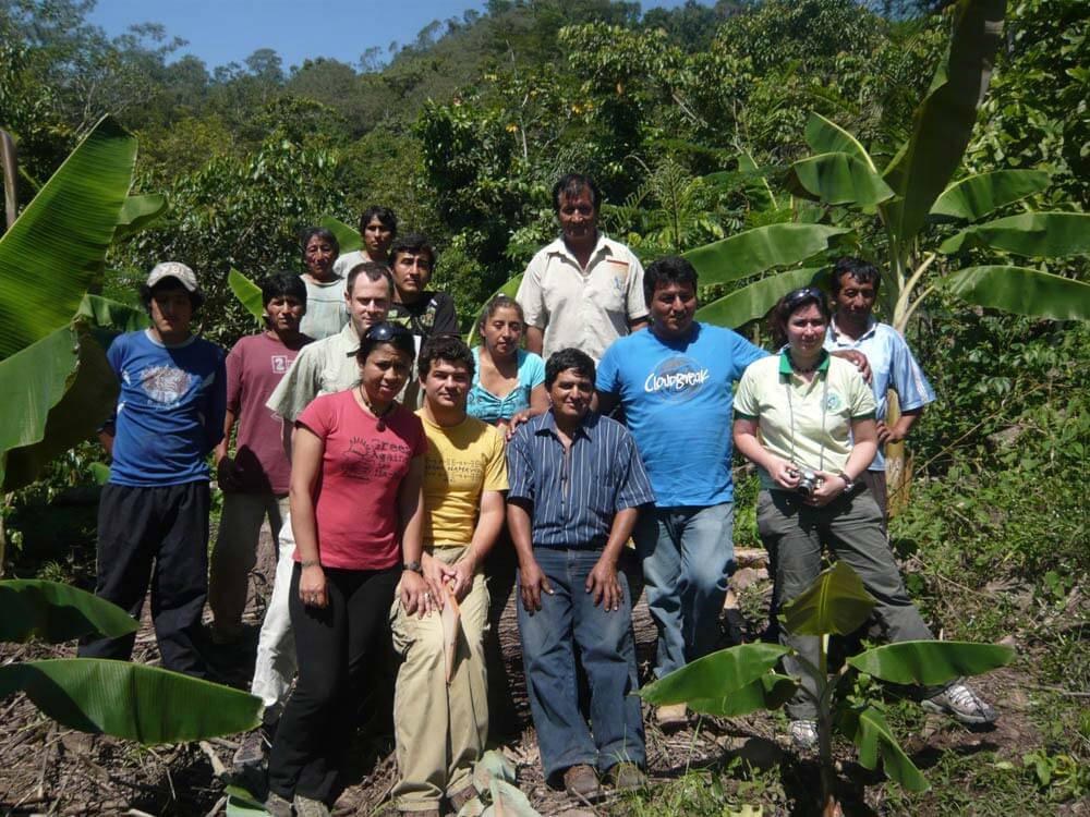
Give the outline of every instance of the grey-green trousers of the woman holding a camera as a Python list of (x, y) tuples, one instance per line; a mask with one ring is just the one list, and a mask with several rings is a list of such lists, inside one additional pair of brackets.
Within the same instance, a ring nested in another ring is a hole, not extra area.
[[(775, 565), (774, 603), (782, 608), (801, 594), (821, 572), (822, 548), (844, 560), (859, 574), (877, 603), (874, 614), (891, 642), (928, 641), (934, 636), (908, 597), (900, 571), (886, 541), (882, 512), (868, 492), (840, 497), (824, 508), (803, 504), (796, 493), (761, 491), (756, 505), (758, 529)], [(780, 625), (779, 642), (818, 664), (818, 636), (791, 635)], [(784, 670), (802, 678), (802, 686), (816, 694), (818, 684), (794, 656)], [(934, 692), (938, 692), (935, 690)], [(813, 700), (802, 692), (788, 703), (795, 720), (813, 719)]]

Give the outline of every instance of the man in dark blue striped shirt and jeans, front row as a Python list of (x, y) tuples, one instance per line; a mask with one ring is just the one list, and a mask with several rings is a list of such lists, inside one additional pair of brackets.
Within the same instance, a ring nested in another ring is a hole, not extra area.
[[(565, 349), (545, 364), (553, 407), (521, 426), (508, 461), (508, 525), (519, 557), (518, 607), (530, 710), (547, 780), (582, 797), (597, 772), (618, 789), (645, 765), (632, 607), (617, 571), (638, 508), (654, 502), (643, 463), (619, 423), (590, 411), (594, 362)], [(579, 707), (576, 647), (590, 683)]]

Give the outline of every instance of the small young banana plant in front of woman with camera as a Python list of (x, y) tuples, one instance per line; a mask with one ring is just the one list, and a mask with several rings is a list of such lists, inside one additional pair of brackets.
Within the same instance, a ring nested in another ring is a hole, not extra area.
[(849, 699), (857, 676), (865, 673), (906, 685), (943, 684), (1003, 667), (1014, 658), (1014, 650), (971, 642), (900, 642), (852, 656), (840, 673), (831, 679), (828, 636), (855, 632), (870, 618), (874, 603), (859, 575), (845, 562), (836, 562), (784, 606), (780, 619), (790, 632), (819, 637), (816, 666), (795, 654), (816, 682), (816, 694), (803, 686), (800, 679), (775, 672), (776, 663), (794, 650), (773, 644), (743, 644), (713, 653), (647, 684), (639, 694), (656, 706), (688, 704), (704, 715), (734, 718), (760, 709), (777, 709), (801, 691), (813, 699), (818, 709), (822, 806), (829, 809), (824, 813), (834, 813), (836, 805), (834, 732), (855, 743), (864, 768), (875, 769), (881, 760), (889, 779), (909, 791), (927, 791), (930, 784), (897, 743), (882, 711), (869, 702)]

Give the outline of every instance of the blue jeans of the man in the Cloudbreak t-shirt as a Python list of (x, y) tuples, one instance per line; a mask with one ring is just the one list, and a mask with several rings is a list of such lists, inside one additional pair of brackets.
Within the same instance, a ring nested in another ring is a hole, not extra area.
[(735, 568), (735, 505), (649, 508), (633, 538), (658, 627), (655, 676), (712, 653)]

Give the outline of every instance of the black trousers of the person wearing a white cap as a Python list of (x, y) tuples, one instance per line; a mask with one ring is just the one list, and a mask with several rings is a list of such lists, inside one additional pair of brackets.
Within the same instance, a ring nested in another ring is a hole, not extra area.
[[(204, 678), (194, 637), (208, 596), (208, 483), (106, 485), (98, 504), (95, 595), (140, 619), (152, 585), (152, 620), (162, 666)], [(87, 637), (81, 658), (132, 658), (136, 634)]]

